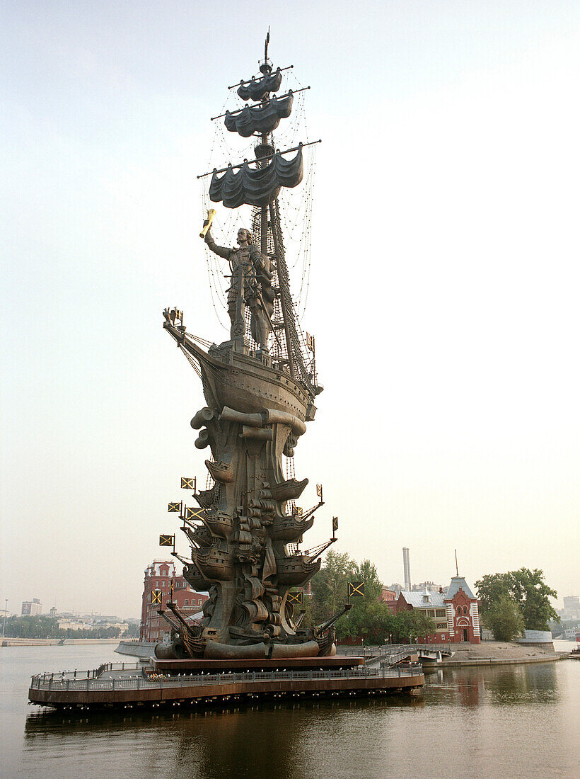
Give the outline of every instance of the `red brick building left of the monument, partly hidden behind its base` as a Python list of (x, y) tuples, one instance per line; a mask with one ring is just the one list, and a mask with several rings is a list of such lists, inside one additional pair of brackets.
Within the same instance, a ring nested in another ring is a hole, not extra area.
[[(159, 604), (153, 604), (153, 590), (161, 593), (161, 608), (165, 608), (170, 600), (171, 581), (173, 580), (173, 601), (181, 614), (186, 619), (195, 620), (197, 615), (201, 618), (203, 604), (207, 601), (207, 594), (195, 592), (183, 576), (175, 575), (173, 560), (153, 560), (145, 569), (145, 581), (143, 587), (141, 624), (139, 625), (140, 641), (163, 641), (170, 631), (169, 624), (162, 616), (157, 614)], [(198, 619), (199, 619), (198, 618)]]

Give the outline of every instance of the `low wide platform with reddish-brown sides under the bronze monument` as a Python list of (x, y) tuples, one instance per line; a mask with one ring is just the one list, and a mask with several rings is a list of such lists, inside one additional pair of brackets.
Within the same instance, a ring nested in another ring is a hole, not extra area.
[(272, 698), (413, 695), (424, 684), (420, 667), (367, 668), (362, 657), (313, 657), (306, 663), (294, 658), (277, 665), (241, 661), (239, 667), (230, 661), (227, 668), (202, 660), (156, 661), (146, 669), (114, 663), (85, 674), (33, 676), (30, 703), (83, 711), (240, 705)]

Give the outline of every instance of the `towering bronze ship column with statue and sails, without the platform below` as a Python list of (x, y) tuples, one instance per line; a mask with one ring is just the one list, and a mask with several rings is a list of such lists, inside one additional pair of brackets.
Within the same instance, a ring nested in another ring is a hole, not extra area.
[(283, 658), (336, 651), (332, 620), (319, 630), (302, 629), (304, 612), (297, 613), (298, 599), (288, 597), (318, 571), (320, 555), (336, 538), (300, 551), (322, 506), (322, 488), (318, 506), (303, 513), (294, 501), (308, 479), (287, 478), (283, 471), (283, 456), (294, 456), (322, 387), (294, 311), (279, 219), (280, 189), (302, 178), (302, 145), (291, 160), (275, 150), (269, 132), (290, 115), (292, 100), (280, 110), (270, 97), (282, 75), (279, 69), (272, 74), (267, 48), (260, 69), (262, 76), (240, 87), (258, 106), (241, 111), (243, 121), (229, 113), (225, 120), (243, 137), (257, 134), (255, 160), (228, 166), (221, 178), (213, 171), (209, 187), (210, 199), (223, 206), (254, 206), (252, 230), (238, 231), (237, 248), (217, 246), (212, 211), (201, 233), (209, 249), (230, 263), (230, 340), (205, 351), (168, 313), (164, 324), (201, 375), (206, 406), (192, 418), (192, 428), (198, 431), (195, 446), (211, 451), (206, 467), (212, 484), (195, 491), (199, 508), (185, 508), (181, 516), (192, 547), (191, 559), (180, 558), (184, 576), (195, 589), (209, 590), (202, 626), (190, 626), (168, 605), (171, 614), (163, 615), (173, 641), (158, 647), (159, 656)]

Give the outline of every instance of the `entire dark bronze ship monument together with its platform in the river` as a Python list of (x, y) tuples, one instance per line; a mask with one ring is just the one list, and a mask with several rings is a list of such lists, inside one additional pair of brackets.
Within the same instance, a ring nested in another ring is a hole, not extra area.
[[(31, 703), (82, 711), (202, 701), (228, 705), (255, 696), (400, 693), (423, 684), (418, 671), (367, 669), (364, 657), (332, 657), (334, 625), (350, 601), (314, 629), (302, 624), (308, 596), (301, 588), (320, 569), (322, 552), (336, 541), (338, 520), (332, 519), (329, 541), (301, 550), (304, 533), (323, 505), (322, 485), (316, 485), (317, 505), (308, 511), (296, 506), (308, 479), (294, 478), (294, 451), (315, 418), (322, 386), (316, 378), (314, 338), (301, 331), (290, 294), (278, 195), (301, 181), (303, 146), (310, 143), (275, 150), (270, 133), (290, 115), (293, 100), (270, 97), (286, 69), (272, 73), (267, 48), (268, 38), (262, 76), (237, 90), (258, 105), (222, 115), (228, 130), (256, 136), (255, 159), (212, 171), (209, 186), (209, 199), (225, 208), (253, 206), (251, 232), (238, 231), (237, 248), (216, 246), (210, 233), (216, 211), (209, 209), (200, 233), (210, 263), (217, 266), (209, 250), (230, 263), (230, 338), (209, 344), (188, 333), (177, 306), (163, 311), (163, 327), (202, 379), (206, 402), (191, 424), (195, 446), (209, 449), (209, 456), (206, 489), (198, 488), (197, 478), (181, 478), (197, 506), (168, 505), (169, 512), (180, 513), (190, 557), (175, 551), (174, 533), (160, 534), (160, 546), (173, 546), (185, 579), (196, 590), (208, 590), (209, 600), (200, 621), (166, 601), (173, 586), (165, 596), (153, 590), (152, 603), (170, 626), (170, 641), (157, 644), (144, 678), (126, 670), (104, 679), (105, 665), (92, 678), (90, 671), (83, 679), (76, 671), (65, 679), (63, 672), (56, 684), (39, 674), (30, 686)], [(287, 160), (283, 155), (291, 152), (297, 154)], [(300, 221), (307, 246), (313, 171), (308, 162), (300, 195), (307, 205)], [(223, 270), (220, 263), (217, 272)], [(349, 596), (363, 588), (350, 583)]]

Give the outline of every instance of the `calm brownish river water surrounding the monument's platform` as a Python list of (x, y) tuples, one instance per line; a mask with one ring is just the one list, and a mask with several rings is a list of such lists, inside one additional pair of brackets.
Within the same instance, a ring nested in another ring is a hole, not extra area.
[[(568, 642), (555, 644), (564, 650)], [(0, 649), (2, 777), (580, 774), (580, 661), (435, 671), (419, 700), (259, 703), (90, 717), (43, 714), (26, 705), (33, 673), (122, 661), (113, 648)]]

